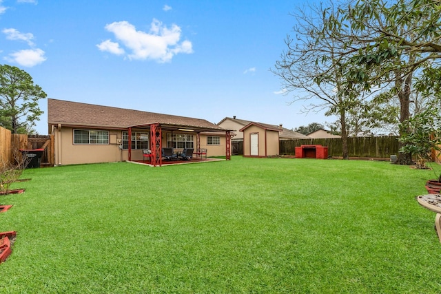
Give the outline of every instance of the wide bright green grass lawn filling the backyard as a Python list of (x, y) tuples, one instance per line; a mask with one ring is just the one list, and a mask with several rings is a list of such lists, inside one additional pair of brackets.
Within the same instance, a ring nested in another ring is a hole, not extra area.
[[(436, 167), (438, 170), (440, 167)], [(27, 169), (0, 293), (440, 293), (433, 171), (242, 158)]]

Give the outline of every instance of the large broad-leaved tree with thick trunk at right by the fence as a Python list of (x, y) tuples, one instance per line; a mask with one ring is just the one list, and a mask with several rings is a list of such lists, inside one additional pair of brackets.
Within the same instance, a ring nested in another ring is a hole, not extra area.
[[(400, 101), (400, 123), (409, 120), (415, 76), (425, 76), (427, 87), (439, 83), (441, 0), (359, 0), (340, 6), (338, 13), (323, 12), (324, 33), (333, 30), (347, 49), (340, 56), (347, 88), (393, 85), (391, 93)], [(397, 162), (411, 160), (400, 154)]]

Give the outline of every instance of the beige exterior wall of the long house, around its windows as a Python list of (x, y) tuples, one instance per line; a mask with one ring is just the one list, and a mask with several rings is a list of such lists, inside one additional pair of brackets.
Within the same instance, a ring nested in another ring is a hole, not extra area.
[[(74, 145), (72, 127), (54, 128), (52, 134), (55, 140), (55, 165), (76, 165), (84, 163), (117, 162), (128, 160), (128, 150), (119, 149), (122, 132), (110, 130), (108, 145)], [(75, 128), (88, 129), (88, 128)], [(104, 130), (104, 129), (103, 129)], [(135, 130), (133, 130), (135, 132)], [(144, 131), (145, 132), (145, 131)], [(212, 134), (209, 136), (218, 136)], [(219, 145), (207, 145), (207, 135), (201, 134), (201, 148), (207, 148), (207, 156), (225, 156), (225, 136), (220, 137)], [(167, 146), (167, 132), (163, 132), (163, 147)], [(194, 149), (196, 149), (196, 134), (194, 134)], [(176, 151), (180, 151), (176, 149)], [(132, 149), (132, 160), (143, 160), (141, 149)]]

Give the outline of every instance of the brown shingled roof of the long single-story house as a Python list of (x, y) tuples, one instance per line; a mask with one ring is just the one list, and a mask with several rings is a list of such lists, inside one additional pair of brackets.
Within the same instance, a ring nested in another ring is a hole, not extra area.
[(200, 118), (48, 99), (49, 125), (127, 129), (152, 123), (169, 127), (189, 127), (198, 131), (226, 131), (222, 127)]

